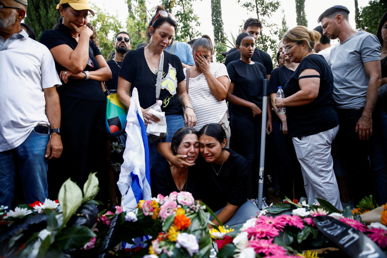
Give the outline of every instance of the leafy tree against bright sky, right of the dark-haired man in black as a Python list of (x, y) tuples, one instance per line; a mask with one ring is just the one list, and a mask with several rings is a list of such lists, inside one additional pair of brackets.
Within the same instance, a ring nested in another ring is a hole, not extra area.
[[(238, 0), (240, 3), (241, 0)], [(275, 59), (277, 55), (277, 46), (278, 46), (278, 35), (279, 29), (278, 25), (270, 21), (270, 18), (278, 10), (279, 1), (278, 0), (246, 0), (246, 2), (241, 4), (242, 7), (245, 7), (247, 11), (254, 12), (257, 14), (257, 18), (263, 22), (263, 29), (260, 32), (260, 38), (257, 40), (257, 47), (261, 50), (268, 52), (271, 50), (273, 52), (272, 59)]]

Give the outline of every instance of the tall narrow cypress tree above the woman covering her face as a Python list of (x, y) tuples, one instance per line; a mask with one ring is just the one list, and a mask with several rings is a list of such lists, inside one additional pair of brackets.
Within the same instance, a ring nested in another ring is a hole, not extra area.
[[(224, 31), (223, 31), (223, 19), (222, 19), (222, 8), (221, 8), (221, 1), (220, 0), (211, 0), (211, 21), (212, 26), (214, 26), (214, 40), (219, 41), (222, 43), (226, 43), (226, 40), (224, 39)], [(218, 55), (216, 57), (217, 62), (222, 62), (224, 60), (223, 55), (221, 55), (221, 52), (226, 51), (226, 46), (222, 44), (214, 44), (215, 53), (214, 55)]]

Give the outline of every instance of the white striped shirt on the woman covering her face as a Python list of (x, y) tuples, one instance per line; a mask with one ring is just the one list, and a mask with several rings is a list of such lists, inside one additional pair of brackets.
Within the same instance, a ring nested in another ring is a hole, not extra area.
[[(187, 68), (184, 68), (184, 74), (186, 71)], [(224, 64), (210, 63), (210, 71), (215, 78), (220, 76), (228, 77), (227, 69)], [(195, 78), (190, 78), (188, 95), (197, 118), (197, 124), (194, 127), (196, 130), (200, 130), (209, 123), (218, 123), (226, 113), (226, 100), (219, 101), (215, 98), (203, 73)]]

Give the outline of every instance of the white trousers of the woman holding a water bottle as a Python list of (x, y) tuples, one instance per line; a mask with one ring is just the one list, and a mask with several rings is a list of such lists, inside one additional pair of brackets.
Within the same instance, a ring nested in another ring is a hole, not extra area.
[(293, 137), (297, 159), (301, 164), (308, 203), (318, 203), (315, 198), (329, 201), (342, 210), (339, 187), (330, 155), (331, 144), (339, 126), (310, 136)]

